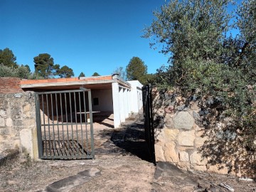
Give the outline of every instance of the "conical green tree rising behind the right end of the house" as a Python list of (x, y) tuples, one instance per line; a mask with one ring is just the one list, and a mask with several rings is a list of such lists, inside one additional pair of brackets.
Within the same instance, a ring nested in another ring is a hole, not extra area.
[(147, 66), (138, 57), (133, 57), (126, 68), (127, 80), (139, 80), (142, 84), (146, 83)]

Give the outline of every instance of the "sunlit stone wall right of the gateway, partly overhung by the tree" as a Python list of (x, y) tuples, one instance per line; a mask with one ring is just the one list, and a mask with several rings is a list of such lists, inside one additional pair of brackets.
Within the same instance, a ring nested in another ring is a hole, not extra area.
[(174, 92), (159, 92), (156, 88), (152, 98), (156, 161), (169, 161), (186, 170), (241, 176), (238, 169), (230, 169), (223, 161), (213, 164), (210, 158), (203, 157), (201, 151), (209, 136), (204, 134), (201, 109), (196, 102), (185, 103)]

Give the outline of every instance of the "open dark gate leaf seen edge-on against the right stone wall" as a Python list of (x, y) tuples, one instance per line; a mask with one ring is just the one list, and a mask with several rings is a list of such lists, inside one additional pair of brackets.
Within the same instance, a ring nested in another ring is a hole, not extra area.
[(142, 87), (143, 112), (144, 112), (144, 132), (146, 143), (149, 148), (151, 161), (156, 164), (156, 156), (154, 150), (154, 127), (152, 114), (151, 85)]

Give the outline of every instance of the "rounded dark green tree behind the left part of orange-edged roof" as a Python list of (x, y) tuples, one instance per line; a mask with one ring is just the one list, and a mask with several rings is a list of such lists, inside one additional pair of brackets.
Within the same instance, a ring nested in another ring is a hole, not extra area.
[(43, 78), (53, 78), (56, 71), (60, 69), (60, 65), (54, 65), (53, 58), (48, 53), (41, 53), (33, 58), (35, 70), (38, 75)]

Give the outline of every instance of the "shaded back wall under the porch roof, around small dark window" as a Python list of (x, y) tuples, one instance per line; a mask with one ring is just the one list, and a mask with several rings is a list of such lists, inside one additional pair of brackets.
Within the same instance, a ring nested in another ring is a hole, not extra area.
[[(93, 105), (93, 98), (99, 99), (99, 105)], [(113, 112), (112, 90), (92, 90), (92, 110)]]

